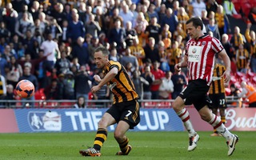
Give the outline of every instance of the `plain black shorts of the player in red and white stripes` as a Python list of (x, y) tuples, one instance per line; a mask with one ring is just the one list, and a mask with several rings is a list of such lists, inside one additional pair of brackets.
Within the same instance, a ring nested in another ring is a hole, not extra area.
[(197, 110), (201, 110), (203, 106), (209, 106), (209, 98), (207, 92), (210, 86), (203, 79), (190, 81), (179, 96), (185, 102), (185, 105), (194, 105)]

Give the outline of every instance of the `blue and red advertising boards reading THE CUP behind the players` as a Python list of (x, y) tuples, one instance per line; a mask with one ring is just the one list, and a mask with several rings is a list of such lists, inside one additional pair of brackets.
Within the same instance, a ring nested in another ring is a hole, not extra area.
[[(141, 122), (134, 128), (134, 131), (184, 131), (182, 121), (171, 108), (171, 102), (173, 100), (141, 102), (143, 106), (140, 110)], [(56, 102), (56, 104), (59, 103), (61, 102)], [(62, 103), (64, 102), (62, 101)], [(95, 101), (88, 103), (91, 108), (86, 109), (58, 105), (44, 108), (40, 108), (41, 106), (37, 108), (16, 106), (0, 109), (0, 133), (96, 131), (98, 121), (107, 108), (94, 106)], [(187, 110), (190, 112), (195, 130), (213, 130), (212, 126), (202, 121), (194, 107), (188, 106)], [(228, 107), (226, 127), (229, 130), (255, 131), (256, 108)], [(113, 131), (114, 126), (110, 126), (108, 130)]]

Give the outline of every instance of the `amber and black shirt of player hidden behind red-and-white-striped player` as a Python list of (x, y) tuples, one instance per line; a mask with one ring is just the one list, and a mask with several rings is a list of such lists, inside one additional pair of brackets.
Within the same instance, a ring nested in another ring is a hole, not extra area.
[(209, 94), (225, 93), (224, 77), (221, 77), (225, 72), (226, 67), (216, 63), (214, 66), (213, 82), (210, 85)]

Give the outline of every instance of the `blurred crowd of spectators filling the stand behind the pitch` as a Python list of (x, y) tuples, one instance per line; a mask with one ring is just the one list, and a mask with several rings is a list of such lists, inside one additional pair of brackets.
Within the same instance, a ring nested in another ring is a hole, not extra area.
[[(245, 33), (230, 28), (229, 16), (236, 15), (246, 19)], [(231, 0), (2, 0), (0, 96), (14, 98), (17, 82), (29, 79), (46, 99), (110, 99), (107, 86), (90, 94), (94, 74), (103, 76), (94, 49), (105, 46), (126, 67), (140, 98), (176, 98), (186, 70), (174, 73), (174, 65), (194, 16), (221, 40), (233, 74), (256, 73), (256, 6), (244, 14)]]

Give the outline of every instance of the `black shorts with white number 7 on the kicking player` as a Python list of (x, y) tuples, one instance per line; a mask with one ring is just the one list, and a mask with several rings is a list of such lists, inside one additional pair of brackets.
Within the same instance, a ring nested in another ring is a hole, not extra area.
[(130, 125), (130, 129), (134, 129), (140, 122), (139, 103), (138, 100), (128, 102), (118, 102), (106, 110), (115, 121), (125, 121)]

